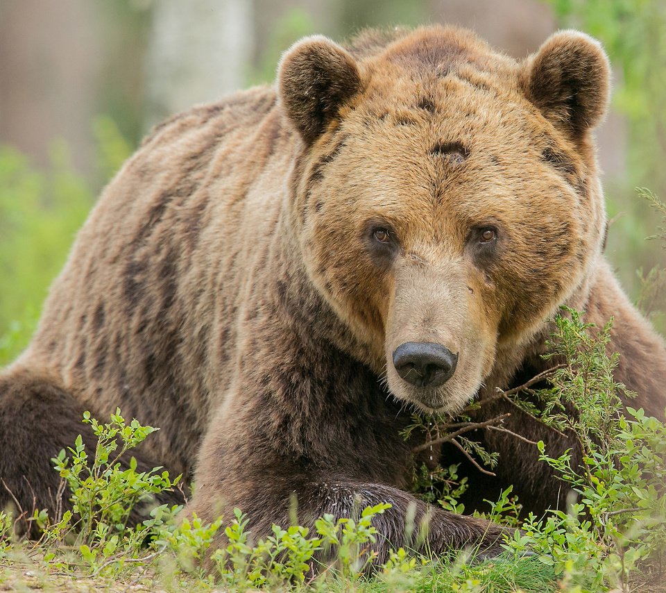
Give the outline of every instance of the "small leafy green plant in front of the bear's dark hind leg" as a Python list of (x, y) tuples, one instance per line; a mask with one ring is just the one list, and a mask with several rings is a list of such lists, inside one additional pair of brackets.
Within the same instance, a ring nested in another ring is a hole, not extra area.
[[(41, 551), (49, 569), (116, 574), (137, 562), (144, 542), (162, 528), (164, 517), (172, 519), (180, 507), (158, 507), (151, 519), (131, 527), (130, 515), (140, 503), (176, 487), (180, 476), (172, 480), (160, 468), (137, 471), (135, 458), (125, 459), (126, 453), (156, 428), (142, 426), (136, 419), (126, 423), (120, 410), (107, 424), (99, 423), (89, 412), (84, 413), (83, 422), (97, 437), (94, 456), (88, 455), (79, 435), (74, 446), (68, 447), (69, 456), (62, 450), (53, 458), (62, 478), (58, 494), (64, 492), (65, 485), (69, 487), (71, 510), (58, 509), (53, 516), (46, 510), (35, 510), (28, 520), (42, 530), (42, 537), (36, 544), (24, 545), (28, 546), (28, 556)], [(0, 539), (8, 535), (7, 528)]]

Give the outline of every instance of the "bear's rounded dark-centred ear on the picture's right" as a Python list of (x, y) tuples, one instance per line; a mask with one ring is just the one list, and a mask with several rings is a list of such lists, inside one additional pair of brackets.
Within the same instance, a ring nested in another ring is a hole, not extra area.
[(574, 138), (606, 115), (610, 65), (601, 44), (585, 33), (551, 35), (527, 58), (520, 82), (543, 115)]

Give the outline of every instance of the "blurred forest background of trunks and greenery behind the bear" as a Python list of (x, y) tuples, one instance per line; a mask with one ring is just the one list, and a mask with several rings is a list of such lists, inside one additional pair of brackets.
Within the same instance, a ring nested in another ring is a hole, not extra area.
[(0, 366), (26, 344), (101, 187), (153, 124), (272, 81), (302, 35), (431, 22), (474, 28), (516, 58), (563, 26), (604, 42), (615, 74), (597, 133), (606, 253), (664, 332), (655, 284), (643, 285), (665, 253), (646, 240), (657, 217), (633, 189), (666, 198), (664, 0), (0, 0)]

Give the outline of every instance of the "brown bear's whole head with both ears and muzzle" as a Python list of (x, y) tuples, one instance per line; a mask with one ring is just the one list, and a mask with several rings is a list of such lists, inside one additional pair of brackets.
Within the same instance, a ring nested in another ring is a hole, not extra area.
[(522, 62), (457, 28), (309, 37), (278, 84), (309, 278), (396, 397), (460, 410), (599, 257), (604, 51), (577, 31)]

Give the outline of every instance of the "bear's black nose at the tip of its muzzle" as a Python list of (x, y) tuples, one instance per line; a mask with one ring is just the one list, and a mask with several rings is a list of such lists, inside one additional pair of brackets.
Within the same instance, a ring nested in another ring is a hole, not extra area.
[(458, 355), (441, 344), (404, 342), (393, 352), (393, 366), (404, 381), (416, 387), (438, 387), (456, 370)]

